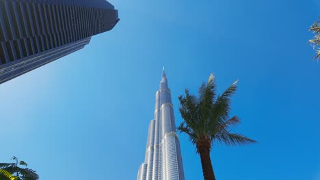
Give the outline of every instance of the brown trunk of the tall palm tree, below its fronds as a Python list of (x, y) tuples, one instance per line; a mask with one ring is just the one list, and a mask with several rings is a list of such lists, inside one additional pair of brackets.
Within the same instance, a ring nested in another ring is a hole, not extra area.
[(210, 159), (210, 147), (207, 145), (202, 145), (201, 147), (198, 147), (198, 152), (201, 158), (204, 180), (215, 180), (215, 174), (213, 172)]

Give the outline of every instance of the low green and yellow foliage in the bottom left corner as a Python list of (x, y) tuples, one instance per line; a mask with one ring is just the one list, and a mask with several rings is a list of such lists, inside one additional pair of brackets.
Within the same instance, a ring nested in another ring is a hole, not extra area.
[[(28, 166), (24, 161), (18, 161), (18, 158), (12, 157), (12, 160), (16, 160), (16, 163), (0, 163), (0, 177), (1, 179), (13, 179), (14, 180), (38, 180), (39, 176), (35, 170), (30, 168), (21, 168), (21, 166)], [(9, 174), (12, 176), (9, 176)]]

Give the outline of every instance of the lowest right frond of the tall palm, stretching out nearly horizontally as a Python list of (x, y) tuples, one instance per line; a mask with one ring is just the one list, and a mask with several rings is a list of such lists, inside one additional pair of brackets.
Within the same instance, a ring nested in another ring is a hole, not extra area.
[(249, 145), (256, 143), (256, 140), (252, 140), (241, 134), (222, 133), (215, 134), (214, 138), (217, 142), (225, 143), (226, 145)]

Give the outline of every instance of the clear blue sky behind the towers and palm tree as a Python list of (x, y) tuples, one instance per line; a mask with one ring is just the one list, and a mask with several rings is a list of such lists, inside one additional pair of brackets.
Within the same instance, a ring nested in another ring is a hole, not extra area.
[[(307, 44), (316, 0), (110, 0), (120, 22), (83, 50), (0, 85), (0, 162), (16, 155), (40, 179), (136, 179), (165, 66), (178, 95), (211, 72), (221, 93), (239, 79), (235, 132), (214, 145), (221, 180), (320, 179), (320, 64)], [(187, 180), (203, 179), (183, 134)]]

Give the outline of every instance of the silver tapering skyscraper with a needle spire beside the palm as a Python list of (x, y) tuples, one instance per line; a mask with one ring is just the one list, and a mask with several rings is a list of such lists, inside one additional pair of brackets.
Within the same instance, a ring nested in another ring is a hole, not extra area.
[(144, 163), (137, 180), (184, 180), (171, 91), (165, 72), (156, 93), (155, 119), (150, 121)]

